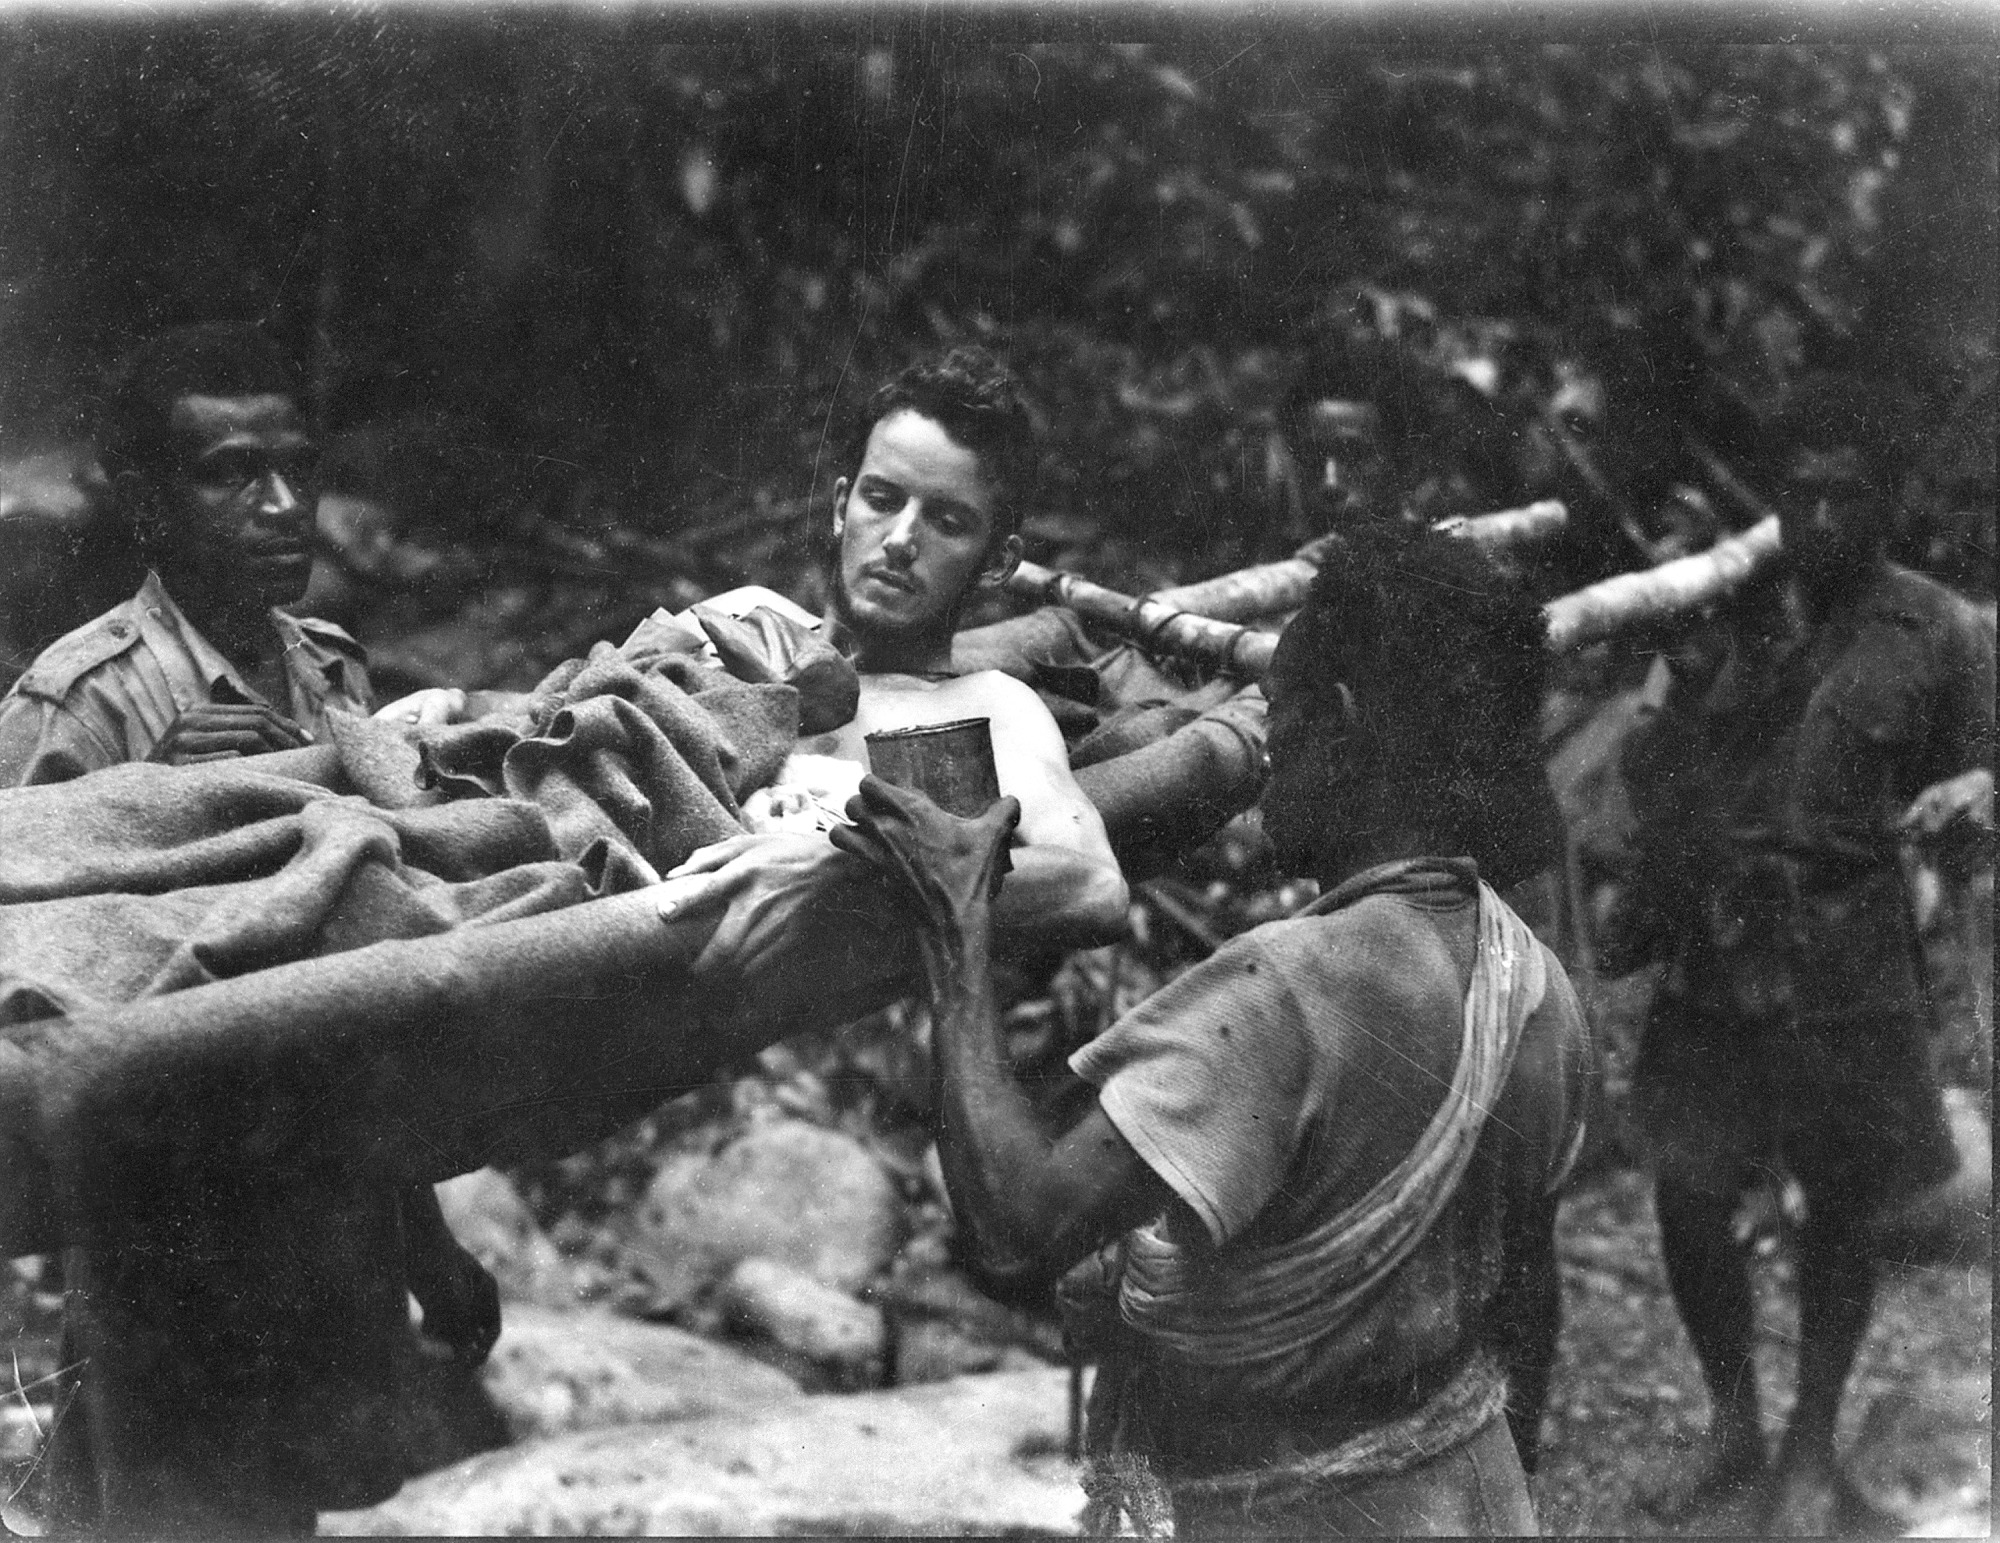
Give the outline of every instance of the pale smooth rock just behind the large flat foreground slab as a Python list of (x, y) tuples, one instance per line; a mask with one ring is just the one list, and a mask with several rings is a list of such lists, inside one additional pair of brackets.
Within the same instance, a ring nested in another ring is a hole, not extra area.
[(664, 1323), (508, 1305), (484, 1369), (516, 1439), (736, 1415), (804, 1397), (776, 1367)]

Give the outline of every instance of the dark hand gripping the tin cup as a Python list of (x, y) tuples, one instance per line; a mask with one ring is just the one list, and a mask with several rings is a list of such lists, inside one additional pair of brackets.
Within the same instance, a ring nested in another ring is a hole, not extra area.
[(960, 819), (922, 793), (868, 775), (848, 799), (848, 819), (854, 823), (836, 825), (828, 839), (894, 875), (918, 917), (942, 929), (1000, 893), (1020, 799), (1002, 797), (978, 819)]

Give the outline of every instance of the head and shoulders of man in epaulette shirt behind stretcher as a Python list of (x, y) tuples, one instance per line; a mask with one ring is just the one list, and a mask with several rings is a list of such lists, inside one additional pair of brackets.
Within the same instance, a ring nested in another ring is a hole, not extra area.
[(0, 700), (0, 787), (290, 750), (330, 710), (368, 712), (362, 646), (282, 610), (312, 574), (318, 450), (264, 334), (208, 324), (148, 342), (112, 386), (98, 456), (150, 572)]

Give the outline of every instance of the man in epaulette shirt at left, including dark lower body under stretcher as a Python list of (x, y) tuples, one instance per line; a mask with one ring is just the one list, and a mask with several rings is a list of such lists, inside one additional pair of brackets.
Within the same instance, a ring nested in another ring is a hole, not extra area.
[[(320, 494), (318, 452), (276, 346), (242, 324), (160, 334), (120, 370), (98, 438), (118, 514), (150, 572), (132, 600), (52, 644), (0, 700), (0, 787), (124, 762), (292, 750), (322, 736), (332, 712), (366, 714), (360, 644), (332, 622), (282, 610), (306, 592)], [(212, 1199), (228, 1207), (228, 1197)], [(50, 1437), (30, 1495), (50, 1525), (310, 1533), (318, 1507), (394, 1491), (418, 1355), (406, 1291), (424, 1307), (424, 1331), (464, 1361), (482, 1361), (498, 1339), (500, 1297), (428, 1185), (356, 1187), (344, 1201), (350, 1231), (338, 1247), (366, 1261), (358, 1273), (376, 1289), (334, 1293), (336, 1307), (288, 1325), (322, 1373), (310, 1393), (286, 1389), (290, 1405), (258, 1381), (264, 1367), (202, 1365), (198, 1347), (174, 1343), (162, 1325), (198, 1315), (200, 1303), (152, 1303), (150, 1319), (116, 1307), (124, 1283), (160, 1273), (144, 1249), (68, 1249), (62, 1403), (72, 1417)], [(206, 1269), (218, 1317), (232, 1285), (226, 1261)], [(262, 1351), (280, 1363), (290, 1347), (266, 1341)], [(120, 1361), (156, 1369), (154, 1407), (108, 1391)], [(184, 1381), (222, 1401), (214, 1387), (230, 1375), (242, 1407), (228, 1431), (176, 1407)], [(124, 1445), (104, 1449), (92, 1429), (116, 1431)]]

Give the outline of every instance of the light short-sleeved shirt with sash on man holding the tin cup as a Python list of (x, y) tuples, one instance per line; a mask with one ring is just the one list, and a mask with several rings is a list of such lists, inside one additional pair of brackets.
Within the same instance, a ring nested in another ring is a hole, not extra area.
[(1506, 1217), (1574, 1161), (1590, 1055), (1470, 863), (1356, 875), (1072, 1065), (1186, 1203), (1120, 1245), (1094, 1453), (1144, 1457), (1178, 1509), (1372, 1483), (1498, 1413)]

